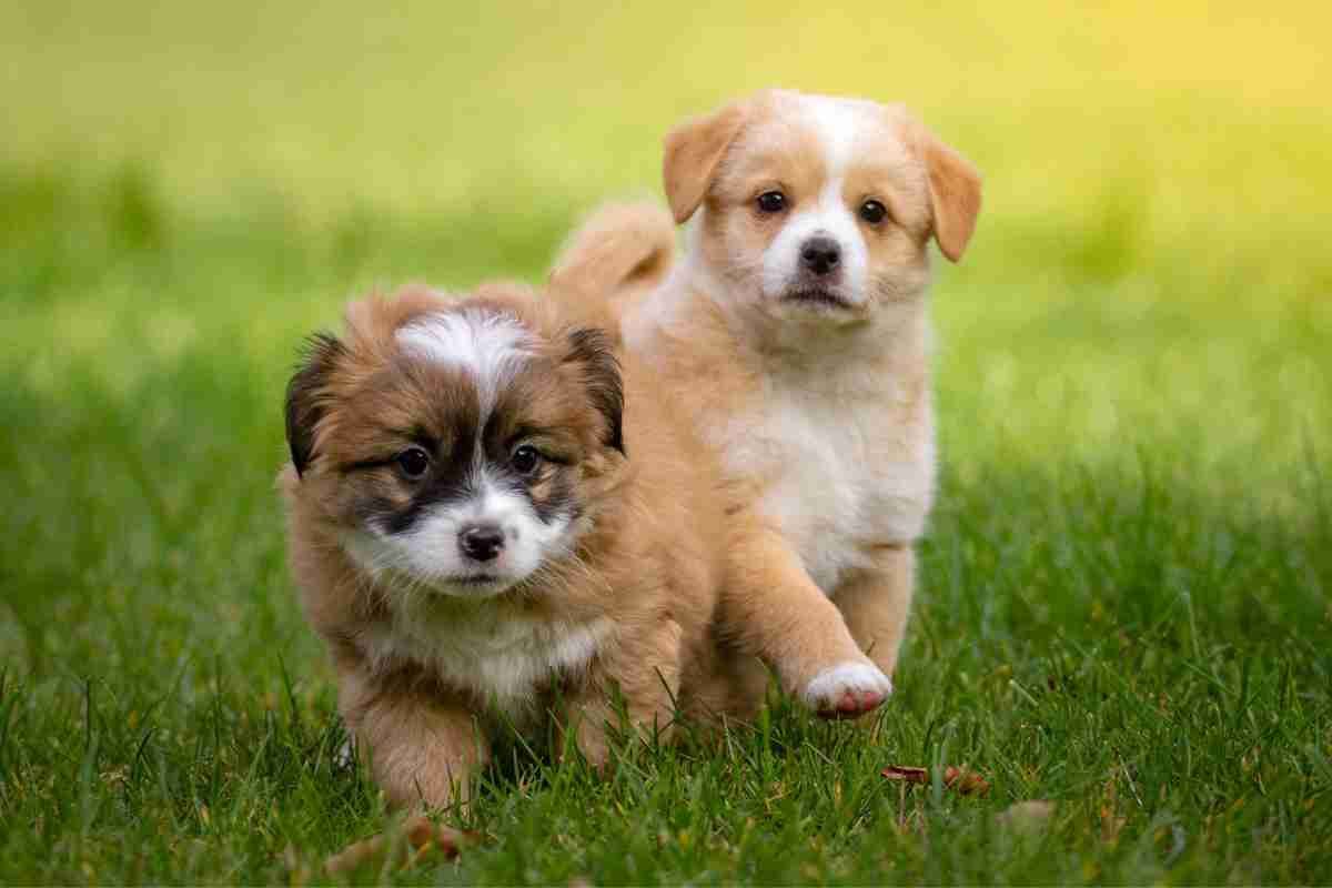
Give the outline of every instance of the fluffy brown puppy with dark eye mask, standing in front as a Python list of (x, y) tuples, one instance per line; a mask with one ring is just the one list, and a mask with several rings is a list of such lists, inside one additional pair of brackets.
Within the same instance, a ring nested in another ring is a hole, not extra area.
[(759, 699), (710, 635), (711, 457), (650, 374), (622, 375), (551, 302), (517, 286), (354, 302), (342, 337), (312, 341), (286, 430), (304, 611), (394, 803), (458, 799), (488, 726), (538, 726), (557, 699), (594, 763), (614, 688), (667, 734), (677, 703)]

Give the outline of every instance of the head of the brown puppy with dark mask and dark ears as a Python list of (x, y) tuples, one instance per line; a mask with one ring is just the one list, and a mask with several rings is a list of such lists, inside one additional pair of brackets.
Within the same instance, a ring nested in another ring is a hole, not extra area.
[(602, 335), (522, 294), (353, 304), (288, 386), (294, 495), (384, 588), (500, 595), (573, 551), (621, 413)]

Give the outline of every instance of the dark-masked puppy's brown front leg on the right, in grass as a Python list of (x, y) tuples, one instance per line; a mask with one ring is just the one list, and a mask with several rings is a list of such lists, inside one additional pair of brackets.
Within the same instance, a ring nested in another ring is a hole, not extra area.
[(618, 719), (613, 688), (618, 688), (629, 722), (639, 734), (655, 732), (662, 739), (671, 734), (679, 699), (683, 630), (670, 616), (654, 622), (650, 631), (609, 644), (569, 696), (574, 739), (597, 768), (605, 767), (610, 755), (606, 727)]

